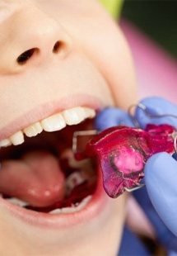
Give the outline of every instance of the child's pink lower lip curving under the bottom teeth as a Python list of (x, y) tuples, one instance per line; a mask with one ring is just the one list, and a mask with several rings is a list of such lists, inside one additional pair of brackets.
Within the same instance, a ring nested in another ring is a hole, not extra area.
[(4, 206), (12, 216), (20, 218), (20, 220), (25, 221), (29, 225), (48, 229), (71, 228), (72, 225), (85, 223), (95, 216), (99, 216), (109, 205), (109, 197), (107, 197), (103, 190), (101, 173), (100, 171), (98, 173), (99, 177), (96, 191), (94, 195), (92, 195), (91, 201), (89, 201), (81, 211), (52, 215), (49, 213), (26, 210), (2, 198), (0, 198), (0, 205)]

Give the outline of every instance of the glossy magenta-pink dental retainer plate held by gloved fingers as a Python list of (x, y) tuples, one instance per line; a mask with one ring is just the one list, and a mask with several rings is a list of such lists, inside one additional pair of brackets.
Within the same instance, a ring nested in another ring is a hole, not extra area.
[(115, 126), (95, 135), (76, 158), (99, 159), (105, 192), (115, 198), (125, 188), (140, 186), (144, 165), (152, 154), (174, 153), (174, 133), (169, 125), (147, 125), (145, 130)]

